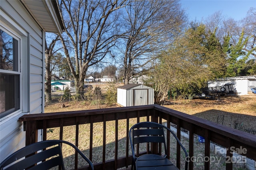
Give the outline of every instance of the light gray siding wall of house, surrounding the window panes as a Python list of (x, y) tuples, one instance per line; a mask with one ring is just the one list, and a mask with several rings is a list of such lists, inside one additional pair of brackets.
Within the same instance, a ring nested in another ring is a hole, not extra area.
[[(44, 31), (20, 1), (1, 0), (1, 24), (20, 36), (21, 107), (0, 119), (0, 162), (25, 146), (25, 132), (18, 118), (44, 111)], [(2, 27), (1, 25), (1, 27)], [(38, 138), (42, 139), (39, 131)]]

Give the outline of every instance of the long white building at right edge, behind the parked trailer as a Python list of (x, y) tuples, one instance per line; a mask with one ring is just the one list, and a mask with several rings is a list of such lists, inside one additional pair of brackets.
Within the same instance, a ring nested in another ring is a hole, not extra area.
[(233, 84), (238, 94), (245, 95), (252, 92), (249, 86), (256, 86), (256, 76), (227, 77), (208, 81), (208, 87), (224, 86), (225, 84)]

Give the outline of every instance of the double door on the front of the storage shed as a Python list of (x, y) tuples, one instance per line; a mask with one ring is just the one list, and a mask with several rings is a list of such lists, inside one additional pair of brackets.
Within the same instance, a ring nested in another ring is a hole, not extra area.
[(133, 91), (133, 106), (141, 106), (148, 104), (148, 90), (147, 89), (134, 89)]

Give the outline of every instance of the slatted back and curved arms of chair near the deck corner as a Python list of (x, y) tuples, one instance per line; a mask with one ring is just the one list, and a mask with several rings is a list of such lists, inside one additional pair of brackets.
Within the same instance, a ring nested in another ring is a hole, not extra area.
[[(165, 139), (165, 133), (164, 129), (172, 133), (180, 147), (182, 147), (182, 150), (185, 152), (185, 156), (188, 156), (188, 153), (178, 137), (175, 135), (175, 133), (170, 130), (168, 127), (155, 123), (155, 122), (140, 122), (135, 125), (133, 125), (130, 128), (129, 131), (129, 139), (130, 139), (130, 145), (132, 148), (132, 168), (136, 162), (136, 159), (138, 158), (138, 155), (135, 156), (135, 145), (139, 143), (157, 143), (158, 144), (158, 154), (161, 152), (161, 146), (164, 145), (164, 152), (166, 157), (167, 155), (167, 149), (166, 149), (166, 139)], [(137, 148), (138, 149), (138, 148)], [(188, 162), (185, 162), (185, 170), (188, 169)]]

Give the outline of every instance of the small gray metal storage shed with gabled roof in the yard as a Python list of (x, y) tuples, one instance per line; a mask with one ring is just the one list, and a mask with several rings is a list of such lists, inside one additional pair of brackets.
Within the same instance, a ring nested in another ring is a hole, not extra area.
[(118, 87), (117, 103), (124, 107), (154, 104), (154, 88), (142, 84), (127, 84)]

